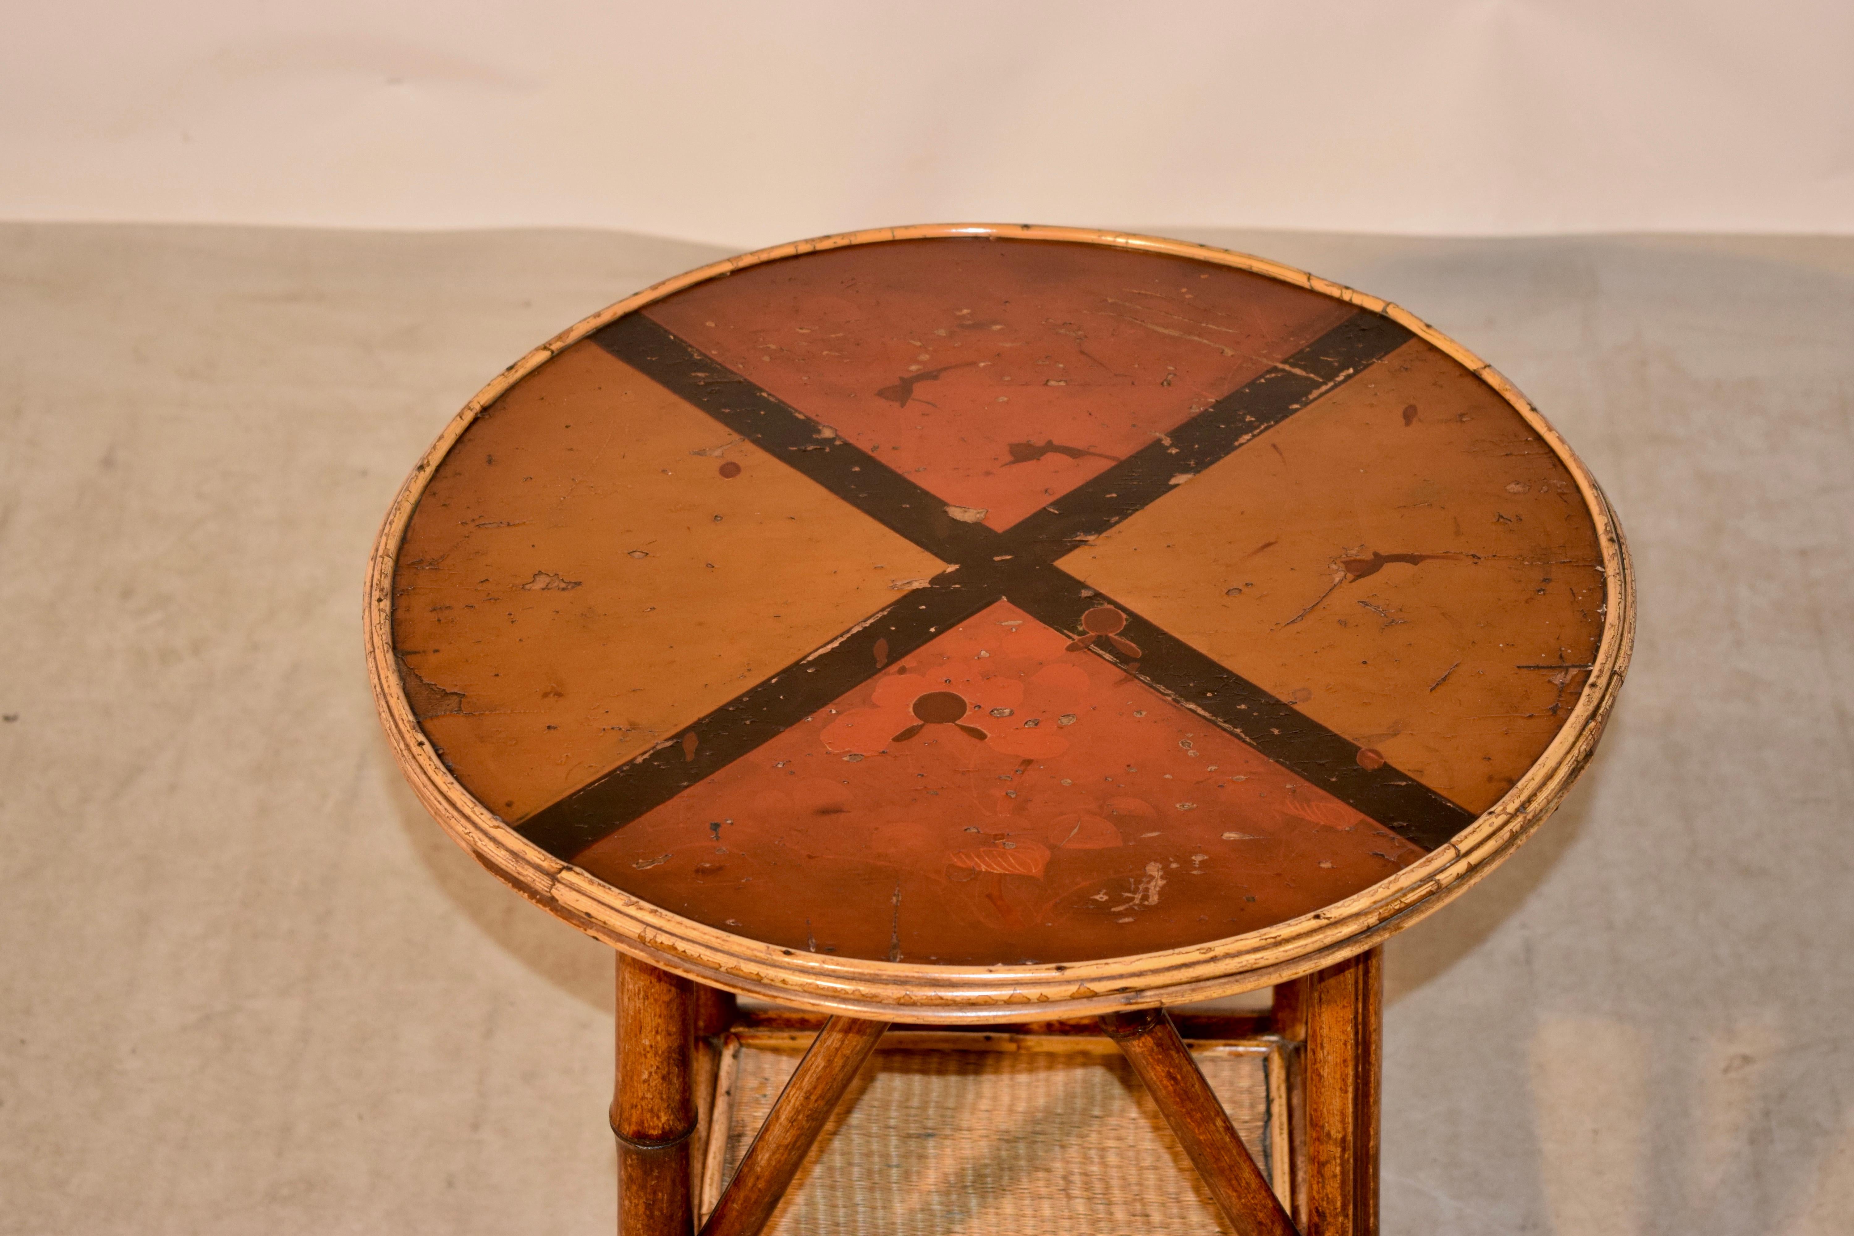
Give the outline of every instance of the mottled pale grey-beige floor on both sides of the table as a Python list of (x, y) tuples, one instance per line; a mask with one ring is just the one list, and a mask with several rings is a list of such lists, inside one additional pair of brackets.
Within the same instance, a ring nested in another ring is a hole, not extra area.
[[(1385, 1230), (1854, 1212), (1854, 241), (1196, 233), (1390, 296), (1635, 549), (1600, 752), (1389, 949)], [(0, 228), (0, 1232), (608, 1232), (610, 956), (399, 782), (360, 576), (497, 369), (714, 250)]]

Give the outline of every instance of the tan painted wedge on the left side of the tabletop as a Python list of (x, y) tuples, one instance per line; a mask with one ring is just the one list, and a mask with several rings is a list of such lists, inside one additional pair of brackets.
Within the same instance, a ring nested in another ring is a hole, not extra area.
[(445, 762), (519, 821), (940, 567), (580, 343), (438, 467), (400, 549), (393, 636)]

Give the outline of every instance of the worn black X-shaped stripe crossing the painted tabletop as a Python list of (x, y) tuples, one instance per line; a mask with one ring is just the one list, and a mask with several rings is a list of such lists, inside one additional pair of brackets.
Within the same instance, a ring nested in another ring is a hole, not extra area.
[[(612, 356), (959, 569), (942, 573), (929, 587), (901, 593), (895, 604), (825, 650), (784, 667), (695, 721), (690, 726), (699, 739), (693, 750), (667, 745), (645, 752), (541, 808), (519, 825), (521, 834), (560, 858), (571, 858), (866, 682), (877, 671), (877, 641), (886, 641), (888, 660), (899, 660), (992, 602), (1009, 599), (1038, 621), (1070, 632), (1077, 630), (1083, 612), (1112, 604), (1127, 615), (1125, 636), (1144, 652), (1137, 665), (1122, 662), (1129, 673), (1411, 843), (1435, 849), (1474, 815), (1390, 765), (1361, 767), (1355, 743), (1053, 565), (1079, 543), (1170, 493), (1181, 473), (1216, 463), (1409, 337), (1390, 319), (1355, 313), (1164, 439), (1016, 526), (994, 532), (953, 519), (942, 498), (858, 447), (829, 435), (816, 421), (643, 313), (612, 322), (593, 335)], [(1118, 660), (1099, 645), (1094, 650)]]

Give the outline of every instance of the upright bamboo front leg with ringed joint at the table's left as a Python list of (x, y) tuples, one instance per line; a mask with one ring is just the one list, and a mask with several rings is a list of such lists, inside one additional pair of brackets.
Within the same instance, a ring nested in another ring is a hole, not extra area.
[(666, 971), (617, 958), (617, 1134), (619, 1236), (690, 1236), (690, 1090), (693, 986)]

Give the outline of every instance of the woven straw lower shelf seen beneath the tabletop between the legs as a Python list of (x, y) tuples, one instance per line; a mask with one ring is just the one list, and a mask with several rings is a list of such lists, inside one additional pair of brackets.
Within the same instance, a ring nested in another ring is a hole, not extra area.
[[(701, 1210), (721, 1195), (810, 1032), (719, 1040)], [(1289, 1197), (1289, 1045), (1192, 1041), (1276, 1193)], [(1229, 1232), (1107, 1038), (890, 1032), (805, 1160), (769, 1236)]]

